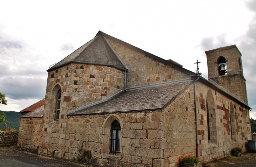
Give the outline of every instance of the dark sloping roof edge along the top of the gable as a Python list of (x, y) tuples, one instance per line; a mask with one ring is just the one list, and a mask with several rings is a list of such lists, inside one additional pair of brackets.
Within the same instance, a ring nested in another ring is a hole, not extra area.
[(157, 60), (157, 61), (160, 61), (160, 62), (162, 62), (162, 63), (164, 63), (164, 64), (170, 65), (171, 67), (173, 67), (173, 68), (175, 68), (175, 69), (177, 69), (177, 70), (180, 70), (180, 71), (182, 71), (182, 72), (184, 72), (184, 73), (186, 73), (186, 74), (188, 74), (188, 75), (195, 75), (194, 72), (189, 71), (189, 70), (183, 68), (181, 64), (178, 64), (177, 62), (175, 62), (175, 61), (173, 61), (173, 60), (171, 60), (171, 61), (170, 61), (170, 60), (168, 60), (168, 61), (167, 61), (167, 60), (164, 60), (164, 59), (161, 58), (161, 57), (158, 57), (158, 56), (155, 56), (155, 55), (153, 55), (153, 54), (151, 54), (151, 53), (148, 53), (148, 52), (146, 52), (146, 51), (144, 51), (144, 50), (142, 50), (142, 49), (140, 49), (140, 48), (137, 48), (137, 47), (135, 47), (135, 46), (133, 46), (133, 45), (127, 43), (127, 42), (124, 42), (124, 41), (122, 41), (122, 40), (119, 40), (119, 39), (117, 39), (117, 38), (115, 38), (115, 37), (113, 37), (113, 36), (110, 36), (110, 35), (108, 35), (108, 34), (105, 34), (105, 33), (101, 32), (101, 31), (99, 31), (96, 36), (98, 36), (98, 35), (100, 35), (100, 34), (103, 35), (103, 36), (106, 36), (106, 37), (108, 37), (109, 39), (112, 39), (112, 40), (114, 40), (114, 41), (116, 41), (116, 42), (119, 42), (119, 43), (123, 44), (124, 46), (127, 46), (127, 47), (129, 47), (129, 48), (132, 48), (132, 49), (134, 49), (134, 50), (136, 50), (136, 51), (138, 51), (138, 52), (140, 52), (140, 53), (142, 53), (142, 54), (144, 54), (144, 55), (147, 55), (147, 56), (149, 56), (149, 57), (151, 57), (151, 58), (154, 58), (154, 59)]

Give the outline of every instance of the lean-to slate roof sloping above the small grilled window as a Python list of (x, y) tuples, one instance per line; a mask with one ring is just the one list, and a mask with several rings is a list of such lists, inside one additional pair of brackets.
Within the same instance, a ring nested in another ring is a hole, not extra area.
[(92, 104), (70, 111), (67, 115), (163, 110), (191, 84), (193, 84), (193, 81), (190, 79), (183, 79), (130, 88), (95, 105)]

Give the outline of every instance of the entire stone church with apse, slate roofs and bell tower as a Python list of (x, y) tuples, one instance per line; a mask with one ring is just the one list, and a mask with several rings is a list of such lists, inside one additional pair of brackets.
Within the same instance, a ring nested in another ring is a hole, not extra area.
[(103, 167), (174, 167), (248, 148), (242, 54), (206, 51), (208, 77), (99, 31), (50, 66), (44, 105), (20, 120), (18, 147)]

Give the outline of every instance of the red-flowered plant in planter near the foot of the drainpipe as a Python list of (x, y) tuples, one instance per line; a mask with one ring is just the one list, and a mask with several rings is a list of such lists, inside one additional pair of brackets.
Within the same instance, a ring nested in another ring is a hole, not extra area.
[(201, 160), (200, 157), (193, 154), (185, 154), (179, 157), (179, 164), (184, 167), (202, 167), (202, 162), (204, 162), (204, 160)]

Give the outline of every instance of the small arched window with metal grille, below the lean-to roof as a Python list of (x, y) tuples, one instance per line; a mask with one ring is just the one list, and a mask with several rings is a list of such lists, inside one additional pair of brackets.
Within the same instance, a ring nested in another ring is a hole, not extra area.
[(111, 124), (110, 153), (118, 155), (120, 153), (121, 126), (117, 120)]

